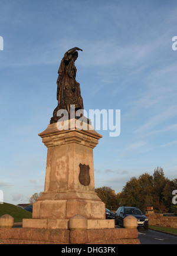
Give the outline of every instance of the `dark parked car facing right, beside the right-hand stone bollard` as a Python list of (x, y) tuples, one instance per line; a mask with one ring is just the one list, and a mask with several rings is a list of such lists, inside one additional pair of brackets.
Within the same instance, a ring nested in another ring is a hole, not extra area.
[(133, 215), (137, 218), (138, 227), (142, 226), (148, 229), (148, 218), (136, 207), (120, 206), (115, 213), (115, 224), (123, 226), (123, 219), (128, 215)]

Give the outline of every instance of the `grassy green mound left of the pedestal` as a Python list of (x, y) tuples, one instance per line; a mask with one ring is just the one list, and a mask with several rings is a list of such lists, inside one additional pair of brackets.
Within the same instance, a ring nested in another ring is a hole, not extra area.
[(14, 217), (14, 222), (22, 222), (22, 219), (31, 219), (32, 213), (24, 210), (19, 206), (11, 205), (11, 203), (0, 204), (0, 216), (9, 214)]

